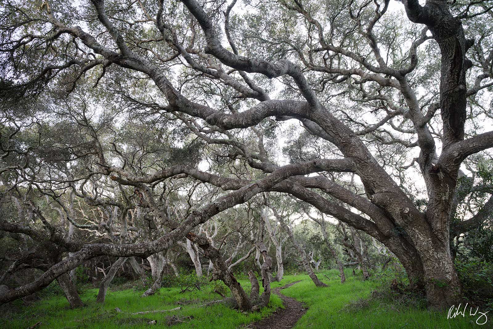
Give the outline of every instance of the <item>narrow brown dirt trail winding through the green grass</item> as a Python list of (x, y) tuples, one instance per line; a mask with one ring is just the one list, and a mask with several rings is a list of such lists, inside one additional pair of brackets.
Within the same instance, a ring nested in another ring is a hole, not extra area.
[(307, 312), (307, 308), (302, 303), (294, 298), (284, 296), (281, 290), (298, 283), (300, 281), (291, 282), (285, 286), (273, 289), (274, 294), (282, 299), (284, 308), (278, 308), (271, 316), (250, 324), (247, 328), (251, 329), (291, 329), (296, 322)]

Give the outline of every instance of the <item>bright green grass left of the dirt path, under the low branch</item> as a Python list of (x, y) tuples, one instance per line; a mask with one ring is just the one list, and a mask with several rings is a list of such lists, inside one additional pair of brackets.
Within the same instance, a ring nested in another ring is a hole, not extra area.
[[(298, 276), (299, 277), (299, 276)], [(273, 288), (298, 280), (298, 277), (287, 276), (281, 283), (274, 282)], [(247, 280), (239, 280), (249, 292), (250, 284)], [(51, 296), (25, 306), (20, 312), (3, 314), (0, 318), (0, 328), (26, 329), (37, 322), (41, 322), (40, 329), (116, 329), (116, 328), (149, 328), (149, 321), (156, 320), (159, 327), (180, 329), (233, 329), (248, 323), (261, 320), (271, 314), (276, 308), (282, 307), (281, 299), (272, 295), (268, 307), (259, 312), (238, 312), (223, 304), (214, 304), (201, 307), (202, 304), (221, 299), (214, 293), (217, 287), (214, 284), (205, 285), (201, 290), (180, 293), (177, 287), (161, 288), (154, 296), (141, 297), (143, 290), (118, 290), (111, 287), (106, 294), (103, 305), (96, 303), (98, 289), (84, 290), (80, 295), (85, 306), (70, 309), (64, 296)], [(262, 291), (262, 287), (260, 287)], [(129, 315), (150, 310), (172, 309), (181, 306), (181, 310), (166, 313), (151, 313), (143, 315)], [(122, 312), (117, 313), (115, 308)], [(171, 326), (169, 326), (171, 325)]]

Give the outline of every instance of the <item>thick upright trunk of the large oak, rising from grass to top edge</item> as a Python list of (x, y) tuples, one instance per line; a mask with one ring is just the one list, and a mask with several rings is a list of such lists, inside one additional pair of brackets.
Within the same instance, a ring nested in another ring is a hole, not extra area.
[(474, 40), (466, 39), (462, 22), (450, 10), (447, 1), (403, 1), (408, 18), (425, 24), (438, 43), (441, 53), (440, 114), (443, 122), (442, 156), (433, 163), (433, 155), (420, 156), (420, 167), (428, 192), (423, 227), (412, 228), (413, 242), (423, 262), (428, 304), (446, 309), (458, 304), (462, 288), (450, 253), (450, 213), (460, 163), (441, 161), (444, 154), (464, 139), (466, 120), (466, 71), (472, 66), (466, 59)]

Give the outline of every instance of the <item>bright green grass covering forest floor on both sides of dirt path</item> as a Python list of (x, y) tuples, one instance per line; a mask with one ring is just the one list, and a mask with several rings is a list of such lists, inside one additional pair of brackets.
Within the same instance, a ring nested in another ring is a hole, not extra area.
[[(492, 328), (492, 320), (484, 326), (476, 325), (478, 316), (459, 316), (447, 319), (447, 312), (430, 312), (420, 306), (405, 302), (405, 298), (391, 298), (375, 293), (381, 280), (378, 277), (362, 281), (361, 275), (347, 272), (347, 281), (340, 284), (337, 271), (322, 271), (318, 277), (329, 286), (316, 288), (307, 275), (286, 275), (272, 287), (281, 287), (299, 281), (282, 290), (282, 294), (301, 301), (308, 307), (307, 313), (298, 321), (296, 329), (444, 329), (444, 328)], [(240, 280), (249, 291), (247, 280)], [(45, 297), (29, 306), (11, 305), (1, 310), (0, 328), (26, 329), (37, 322), (38, 327), (53, 329), (113, 329), (149, 328), (147, 323), (157, 321), (156, 327), (173, 329), (234, 329), (249, 328), (249, 324), (268, 317), (282, 307), (279, 296), (271, 295), (270, 305), (261, 312), (242, 313), (223, 304), (201, 306), (221, 297), (214, 293), (214, 284), (205, 285), (200, 291), (180, 293), (178, 287), (161, 288), (154, 296), (141, 297), (142, 287), (128, 289), (125, 286), (110, 286), (104, 305), (96, 303), (98, 289), (85, 289), (81, 298), (86, 304), (79, 309), (70, 309), (64, 296)], [(372, 295), (372, 292), (373, 295)], [(377, 296), (378, 295), (378, 296)], [(385, 295), (385, 294), (384, 294)], [(130, 315), (129, 313), (172, 309), (166, 313)], [(117, 313), (115, 308), (121, 309)], [(489, 315), (489, 314), (488, 314)]]

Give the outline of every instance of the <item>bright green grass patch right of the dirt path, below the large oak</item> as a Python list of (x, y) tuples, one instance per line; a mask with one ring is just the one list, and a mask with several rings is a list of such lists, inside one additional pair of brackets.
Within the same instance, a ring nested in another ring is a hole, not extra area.
[[(469, 316), (466, 313), (465, 317), (447, 319), (447, 311), (432, 312), (425, 309), (424, 304), (409, 301), (409, 298), (389, 296), (389, 292), (381, 293), (382, 288), (379, 286), (382, 280), (378, 277), (362, 281), (361, 275), (353, 276), (352, 270), (347, 270), (346, 283), (341, 284), (337, 271), (323, 273), (330, 278), (328, 280), (322, 277), (329, 285), (327, 288), (317, 288), (310, 280), (303, 280), (282, 290), (284, 295), (293, 297), (308, 307), (307, 313), (298, 321), (295, 329), (492, 328), (489, 327), (491, 320), (484, 326), (476, 325), (479, 315)], [(474, 308), (473, 313), (475, 310)]]

